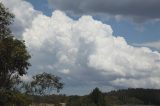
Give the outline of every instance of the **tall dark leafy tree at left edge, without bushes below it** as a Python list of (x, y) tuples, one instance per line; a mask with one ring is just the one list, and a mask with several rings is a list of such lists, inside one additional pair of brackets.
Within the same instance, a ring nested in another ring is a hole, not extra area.
[(14, 15), (0, 3), (0, 89), (12, 89), (26, 74), (31, 58), (23, 40), (16, 39), (9, 26)]

